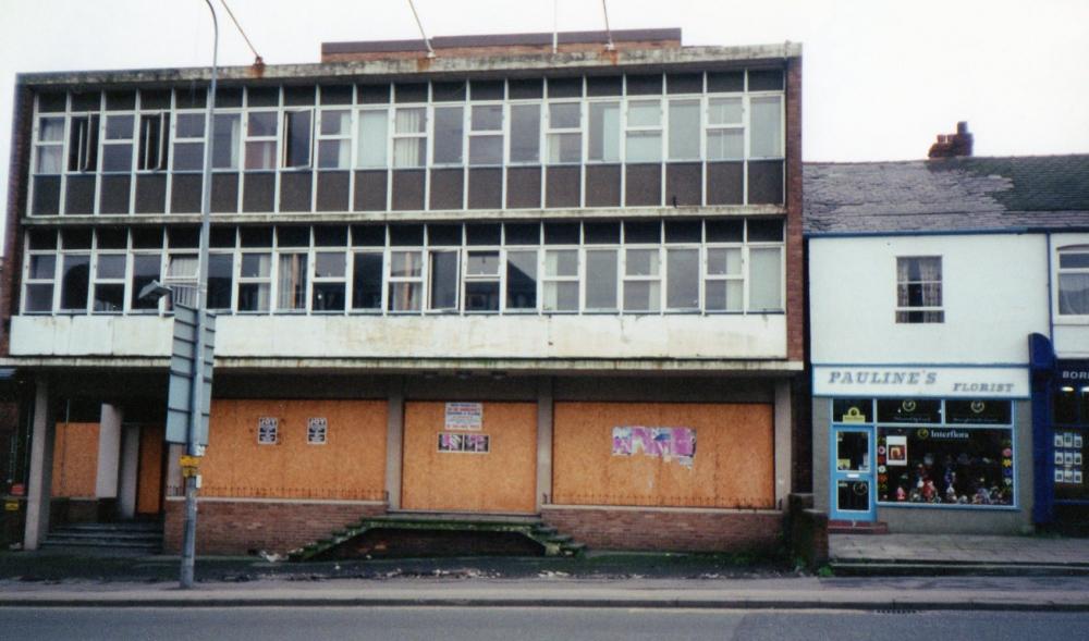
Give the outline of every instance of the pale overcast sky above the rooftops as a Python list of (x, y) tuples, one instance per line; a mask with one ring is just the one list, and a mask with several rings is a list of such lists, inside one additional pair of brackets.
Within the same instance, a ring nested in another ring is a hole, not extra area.
[[(253, 54), (222, 10), (220, 63)], [(600, 0), (415, 0), (429, 36), (603, 27)], [(228, 0), (268, 64), (416, 38), (407, 0)], [(0, 0), (0, 188), (19, 72), (207, 66), (203, 0)], [(922, 158), (966, 120), (978, 156), (1089, 152), (1089, 0), (610, 0), (614, 29), (804, 45), (806, 160)], [(3, 202), (7, 207), (7, 197)]]

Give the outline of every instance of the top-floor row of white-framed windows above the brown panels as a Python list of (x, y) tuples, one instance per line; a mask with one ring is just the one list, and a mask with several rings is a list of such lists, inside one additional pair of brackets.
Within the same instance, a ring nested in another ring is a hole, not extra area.
[[(211, 127), (212, 168), (416, 169), (782, 158), (782, 106), (781, 95), (761, 95), (218, 111)], [(199, 172), (206, 120), (201, 111), (39, 115), (34, 170), (39, 175), (129, 173), (134, 167)]]

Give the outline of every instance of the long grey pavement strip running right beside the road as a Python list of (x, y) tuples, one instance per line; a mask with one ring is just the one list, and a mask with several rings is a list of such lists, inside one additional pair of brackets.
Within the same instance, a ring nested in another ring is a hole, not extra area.
[(1089, 612), (1089, 579), (331, 579), (246, 583), (0, 581), (3, 607), (449, 606)]

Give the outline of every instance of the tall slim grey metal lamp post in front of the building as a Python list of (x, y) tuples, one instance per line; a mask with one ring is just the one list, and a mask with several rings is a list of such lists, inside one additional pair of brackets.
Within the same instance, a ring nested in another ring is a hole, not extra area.
[[(211, 211), (211, 145), (212, 122), (216, 110), (216, 77), (219, 71), (219, 21), (211, 0), (205, 0), (211, 12), (212, 49), (211, 49), (211, 86), (208, 90), (208, 111), (205, 113), (205, 161), (204, 177), (200, 182), (200, 255), (197, 261), (197, 300), (196, 300), (196, 350), (193, 359), (193, 399), (189, 404), (189, 431), (186, 437), (185, 453), (199, 456), (200, 445), (197, 434), (200, 432), (200, 421), (204, 420), (204, 383), (205, 383), (205, 310), (208, 306), (208, 236)], [(182, 572), (181, 587), (193, 587), (194, 563), (197, 544), (197, 478), (191, 474), (185, 478), (185, 532), (182, 538)]]

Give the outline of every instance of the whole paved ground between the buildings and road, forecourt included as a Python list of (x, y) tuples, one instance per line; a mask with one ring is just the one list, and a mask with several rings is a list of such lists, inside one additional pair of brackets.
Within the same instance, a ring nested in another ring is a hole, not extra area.
[(506, 606), (1089, 612), (1089, 539), (834, 534), (830, 568), (783, 558), (591, 552), (582, 558), (269, 562), (87, 551), (0, 553), (0, 608)]

